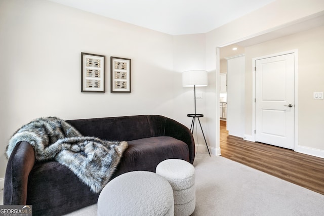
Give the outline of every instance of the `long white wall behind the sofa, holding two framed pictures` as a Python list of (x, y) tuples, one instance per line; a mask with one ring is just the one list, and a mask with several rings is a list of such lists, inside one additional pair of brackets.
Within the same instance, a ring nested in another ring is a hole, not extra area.
[[(197, 62), (205, 62), (202, 43)], [(172, 35), (52, 2), (1, 1), (0, 179), (10, 136), (37, 117), (160, 114), (190, 126), (184, 107), (191, 104), (174, 105), (189, 89), (174, 72), (173, 46)], [(106, 56), (106, 93), (80, 92), (81, 52)], [(132, 59), (132, 93), (110, 93), (110, 56)]]

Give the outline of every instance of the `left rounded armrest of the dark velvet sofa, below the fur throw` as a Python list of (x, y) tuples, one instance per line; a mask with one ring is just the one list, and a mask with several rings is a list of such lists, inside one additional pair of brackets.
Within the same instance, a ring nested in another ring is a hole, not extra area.
[(33, 147), (25, 141), (17, 143), (8, 160), (4, 205), (26, 205), (29, 173), (35, 163)]

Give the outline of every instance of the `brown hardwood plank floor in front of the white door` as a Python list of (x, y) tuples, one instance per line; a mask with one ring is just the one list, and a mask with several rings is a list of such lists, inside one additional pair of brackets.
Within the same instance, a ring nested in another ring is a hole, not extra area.
[(228, 135), (220, 121), (223, 157), (324, 195), (324, 159)]

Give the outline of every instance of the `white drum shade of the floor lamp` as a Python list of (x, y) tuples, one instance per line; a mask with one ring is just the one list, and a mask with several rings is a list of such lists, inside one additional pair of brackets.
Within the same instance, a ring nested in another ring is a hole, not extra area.
[(189, 70), (182, 72), (183, 87), (205, 87), (208, 84), (206, 70)]

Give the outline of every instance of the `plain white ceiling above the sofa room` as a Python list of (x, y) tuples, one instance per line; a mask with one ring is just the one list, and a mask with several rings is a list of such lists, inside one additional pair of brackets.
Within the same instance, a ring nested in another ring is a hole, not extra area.
[(275, 0), (50, 0), (171, 35), (206, 33)]

